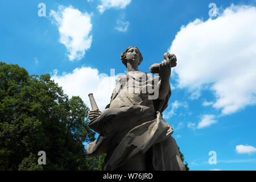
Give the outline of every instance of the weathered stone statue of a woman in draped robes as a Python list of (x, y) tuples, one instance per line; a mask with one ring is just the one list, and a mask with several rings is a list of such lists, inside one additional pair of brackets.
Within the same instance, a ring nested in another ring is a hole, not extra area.
[(127, 48), (121, 60), (127, 73), (118, 77), (110, 104), (89, 112), (89, 127), (100, 135), (87, 154), (106, 154), (104, 170), (185, 170), (174, 131), (161, 114), (171, 96), (176, 56), (165, 53), (162, 63), (150, 67), (159, 77), (138, 70), (143, 57), (137, 47)]

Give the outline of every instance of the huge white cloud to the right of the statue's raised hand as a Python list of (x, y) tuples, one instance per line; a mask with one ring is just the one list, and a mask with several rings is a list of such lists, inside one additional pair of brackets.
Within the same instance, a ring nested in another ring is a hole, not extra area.
[(232, 5), (216, 19), (181, 27), (168, 49), (177, 56), (178, 87), (194, 98), (210, 88), (222, 114), (256, 104), (255, 22), (256, 7)]

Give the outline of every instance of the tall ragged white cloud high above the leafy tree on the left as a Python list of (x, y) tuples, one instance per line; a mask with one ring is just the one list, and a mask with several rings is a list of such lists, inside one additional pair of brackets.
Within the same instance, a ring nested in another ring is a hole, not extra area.
[(92, 44), (90, 15), (72, 6), (59, 6), (58, 11), (51, 10), (49, 16), (59, 27), (60, 43), (67, 48), (69, 60), (82, 59)]

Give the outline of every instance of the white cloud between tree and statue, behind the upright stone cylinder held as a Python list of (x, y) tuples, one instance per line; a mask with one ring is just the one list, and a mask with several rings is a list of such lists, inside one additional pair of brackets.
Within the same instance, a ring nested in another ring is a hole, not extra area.
[[(109, 74), (108, 74), (109, 75)], [(85, 104), (90, 108), (88, 94), (93, 93), (100, 110), (104, 110), (110, 103), (110, 97), (115, 87), (118, 75), (110, 73), (99, 73), (97, 69), (88, 67), (76, 68), (72, 73), (63, 73), (58, 76), (55, 69), (53, 80), (63, 87), (64, 93), (71, 98), (80, 96)]]

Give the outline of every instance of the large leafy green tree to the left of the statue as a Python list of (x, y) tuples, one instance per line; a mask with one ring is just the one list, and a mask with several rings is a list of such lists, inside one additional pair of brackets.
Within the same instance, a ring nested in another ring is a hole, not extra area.
[[(95, 140), (80, 97), (68, 98), (49, 74), (0, 62), (0, 170), (87, 170), (83, 142)], [(46, 165), (38, 166), (39, 151)]]

